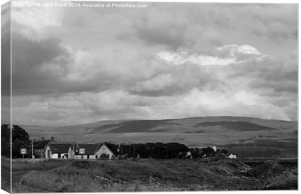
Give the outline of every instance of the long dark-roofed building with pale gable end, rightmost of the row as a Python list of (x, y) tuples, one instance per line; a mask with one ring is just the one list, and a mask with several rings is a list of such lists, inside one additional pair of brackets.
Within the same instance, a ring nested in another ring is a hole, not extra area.
[[(71, 144), (71, 148), (74, 151), (74, 155), (71, 156), (74, 159), (99, 159), (100, 156), (106, 156), (111, 159), (114, 153), (105, 144)], [(80, 154), (79, 150), (84, 149), (84, 154)]]

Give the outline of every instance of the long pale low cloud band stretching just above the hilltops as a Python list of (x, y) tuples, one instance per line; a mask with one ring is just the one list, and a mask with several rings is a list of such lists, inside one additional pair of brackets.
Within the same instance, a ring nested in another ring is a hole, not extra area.
[[(19, 100), (22, 100), (21, 97), (16, 98), (14, 103)], [(31, 102), (21, 107), (14, 104), (12, 113), (15, 123), (49, 126), (112, 119), (165, 119), (196, 115), (290, 120), (284, 109), (271, 104), (268, 97), (244, 90), (223, 93), (194, 89), (190, 93), (174, 97), (141, 97), (110, 90), (46, 97), (40, 102)]]

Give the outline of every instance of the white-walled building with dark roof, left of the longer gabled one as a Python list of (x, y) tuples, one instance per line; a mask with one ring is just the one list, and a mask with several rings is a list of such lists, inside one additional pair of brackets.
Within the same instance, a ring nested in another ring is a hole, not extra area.
[(48, 144), (45, 149), (45, 158), (71, 158), (70, 144)]

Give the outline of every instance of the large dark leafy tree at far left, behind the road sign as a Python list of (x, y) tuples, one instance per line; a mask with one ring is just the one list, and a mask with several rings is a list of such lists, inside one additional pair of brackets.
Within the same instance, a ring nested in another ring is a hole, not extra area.
[(25, 129), (17, 125), (12, 129), (12, 157), (21, 158), (20, 149), (27, 148), (27, 156), (31, 155), (31, 141)]

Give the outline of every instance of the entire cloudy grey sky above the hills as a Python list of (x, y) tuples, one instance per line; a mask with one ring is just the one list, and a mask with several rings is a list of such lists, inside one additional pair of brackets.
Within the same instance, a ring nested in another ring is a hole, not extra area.
[(142, 4), (13, 6), (13, 123), (298, 120), (297, 4)]

